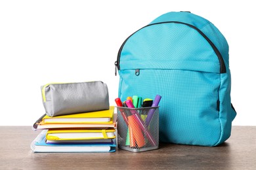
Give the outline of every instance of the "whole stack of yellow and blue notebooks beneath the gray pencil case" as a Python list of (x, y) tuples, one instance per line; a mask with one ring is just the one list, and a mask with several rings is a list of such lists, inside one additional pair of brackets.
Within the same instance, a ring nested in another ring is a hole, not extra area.
[(33, 125), (41, 133), (31, 144), (33, 152), (114, 152), (116, 114), (109, 110), (50, 117)]

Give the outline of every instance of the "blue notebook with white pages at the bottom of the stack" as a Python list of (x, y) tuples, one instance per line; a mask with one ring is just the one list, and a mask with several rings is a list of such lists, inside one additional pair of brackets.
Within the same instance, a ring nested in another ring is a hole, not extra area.
[[(58, 144), (46, 143), (45, 135), (47, 130), (41, 131), (32, 141), (30, 147), (33, 152), (115, 152), (116, 143), (92, 144), (92, 143), (74, 143)], [(115, 140), (114, 140), (115, 141)]]

